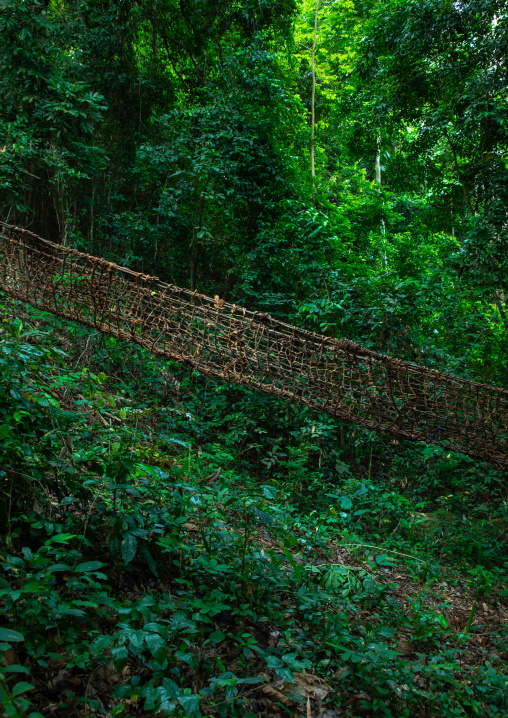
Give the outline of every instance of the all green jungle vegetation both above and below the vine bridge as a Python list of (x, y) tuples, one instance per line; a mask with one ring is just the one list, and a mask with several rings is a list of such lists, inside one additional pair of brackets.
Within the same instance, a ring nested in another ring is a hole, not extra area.
[[(501, 0), (0, 0), (0, 219), (508, 388)], [(0, 295), (0, 712), (508, 716), (506, 474)]]

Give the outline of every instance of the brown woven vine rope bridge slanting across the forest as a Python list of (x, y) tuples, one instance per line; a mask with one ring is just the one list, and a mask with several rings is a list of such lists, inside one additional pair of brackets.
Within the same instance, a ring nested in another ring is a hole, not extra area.
[(203, 374), (508, 469), (508, 391), (165, 284), (0, 223), (0, 289)]

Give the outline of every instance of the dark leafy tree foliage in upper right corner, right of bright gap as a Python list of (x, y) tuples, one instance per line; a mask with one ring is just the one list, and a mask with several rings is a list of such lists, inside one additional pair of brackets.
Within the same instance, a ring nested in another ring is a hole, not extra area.
[(432, 157), (427, 186), (441, 211), (453, 207), (452, 226), (463, 206), (455, 261), (469, 283), (491, 290), (506, 276), (506, 70), (497, 58), (507, 39), (499, 2), (392, 2), (374, 13), (359, 65), (385, 142), (398, 131), (408, 160)]

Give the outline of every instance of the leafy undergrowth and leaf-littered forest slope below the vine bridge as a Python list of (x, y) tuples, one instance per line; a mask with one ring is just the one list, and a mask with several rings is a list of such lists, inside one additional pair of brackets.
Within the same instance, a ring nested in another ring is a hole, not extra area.
[(2, 314), (3, 715), (508, 715), (505, 477)]

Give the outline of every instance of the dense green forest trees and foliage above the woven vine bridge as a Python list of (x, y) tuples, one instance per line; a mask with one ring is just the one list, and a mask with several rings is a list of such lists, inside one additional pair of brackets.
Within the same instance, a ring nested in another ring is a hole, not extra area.
[(0, 33), (4, 221), (504, 382), (504, 3), (2, 0)]

